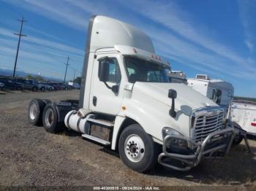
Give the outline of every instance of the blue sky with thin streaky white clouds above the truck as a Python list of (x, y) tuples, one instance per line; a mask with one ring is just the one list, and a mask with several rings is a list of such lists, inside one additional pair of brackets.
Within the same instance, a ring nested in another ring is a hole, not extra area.
[(151, 36), (159, 55), (187, 77), (208, 74), (256, 97), (256, 0), (0, 0), (0, 68), (13, 69), (20, 17), (28, 22), (18, 70), (67, 79), (83, 67), (88, 20), (106, 15)]

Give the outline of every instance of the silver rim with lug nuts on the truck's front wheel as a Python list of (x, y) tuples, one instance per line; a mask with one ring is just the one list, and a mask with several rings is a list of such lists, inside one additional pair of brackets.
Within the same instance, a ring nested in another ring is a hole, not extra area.
[(130, 135), (124, 141), (124, 152), (127, 158), (133, 163), (138, 163), (145, 154), (143, 140), (137, 135)]

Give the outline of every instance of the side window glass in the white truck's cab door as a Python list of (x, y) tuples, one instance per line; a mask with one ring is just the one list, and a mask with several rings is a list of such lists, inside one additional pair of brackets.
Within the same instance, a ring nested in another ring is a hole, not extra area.
[(118, 83), (121, 80), (121, 72), (116, 58), (105, 58), (99, 61), (99, 71), (105, 69), (106, 82)]

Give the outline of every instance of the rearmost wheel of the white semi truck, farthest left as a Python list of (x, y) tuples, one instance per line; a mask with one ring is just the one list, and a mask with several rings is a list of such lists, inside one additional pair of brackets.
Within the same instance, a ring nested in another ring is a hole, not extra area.
[(42, 112), (45, 102), (41, 99), (32, 99), (29, 103), (28, 118), (31, 125), (42, 125)]

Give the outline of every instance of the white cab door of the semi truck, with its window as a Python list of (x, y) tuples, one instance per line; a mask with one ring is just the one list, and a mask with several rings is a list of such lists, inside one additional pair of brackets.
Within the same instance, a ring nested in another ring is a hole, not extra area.
[[(94, 59), (94, 71), (91, 82), (90, 109), (94, 112), (116, 115), (121, 107), (122, 91), (124, 90), (121, 70), (121, 58), (117, 53), (99, 54)], [(99, 68), (107, 64), (107, 82), (99, 81)], [(118, 92), (114, 93), (111, 87), (118, 85)]]

